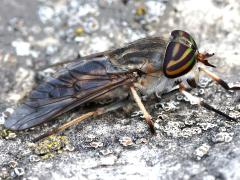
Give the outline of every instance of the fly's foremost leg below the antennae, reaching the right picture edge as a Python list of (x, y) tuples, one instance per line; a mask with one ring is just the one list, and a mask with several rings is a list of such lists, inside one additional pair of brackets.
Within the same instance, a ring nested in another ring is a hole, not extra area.
[(221, 85), (226, 90), (240, 90), (239, 86), (229, 87), (228, 84), (222, 80), (220, 77), (218, 77), (216, 74), (212, 73), (211, 71), (207, 70), (206, 68), (199, 68), (200, 71), (203, 71), (205, 74), (207, 74), (210, 78), (212, 78), (214, 81), (216, 81), (219, 85)]

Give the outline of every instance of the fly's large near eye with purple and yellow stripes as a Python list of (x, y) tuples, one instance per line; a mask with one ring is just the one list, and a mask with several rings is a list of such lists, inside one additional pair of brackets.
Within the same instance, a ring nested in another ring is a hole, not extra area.
[(163, 60), (163, 73), (168, 78), (177, 78), (188, 73), (196, 64), (196, 50), (179, 42), (167, 45)]

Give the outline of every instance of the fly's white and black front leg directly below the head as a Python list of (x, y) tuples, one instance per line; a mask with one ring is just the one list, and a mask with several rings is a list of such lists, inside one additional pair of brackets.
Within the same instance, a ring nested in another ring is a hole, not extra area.
[(225, 114), (224, 112), (222, 112), (222, 111), (220, 111), (218, 109), (215, 109), (211, 105), (205, 103), (201, 98), (193, 96), (192, 94), (187, 92), (185, 89), (186, 88), (182, 84), (179, 85), (180, 92), (189, 99), (191, 104), (197, 104), (199, 106), (202, 106), (202, 107), (204, 107), (204, 108), (206, 108), (206, 109), (208, 109), (210, 111), (213, 111), (213, 112), (215, 112), (217, 114), (220, 114), (221, 116), (224, 116), (225, 118), (227, 118), (230, 121), (235, 121), (235, 122), (237, 121), (237, 119), (235, 119), (233, 117), (230, 117), (227, 114)]

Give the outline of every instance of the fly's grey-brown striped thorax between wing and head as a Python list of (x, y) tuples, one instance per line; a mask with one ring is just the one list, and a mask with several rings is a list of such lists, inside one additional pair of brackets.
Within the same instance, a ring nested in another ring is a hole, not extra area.
[(161, 37), (143, 38), (130, 43), (123, 48), (113, 50), (108, 58), (115, 66), (128, 70), (145, 71), (146, 64), (152, 64), (155, 69), (162, 66), (167, 41)]

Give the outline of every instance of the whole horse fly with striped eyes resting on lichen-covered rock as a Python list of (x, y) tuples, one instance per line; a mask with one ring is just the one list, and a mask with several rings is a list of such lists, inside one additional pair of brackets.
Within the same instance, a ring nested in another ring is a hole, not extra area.
[(134, 100), (154, 133), (152, 117), (138, 93), (147, 97), (154, 93), (171, 92), (176, 87), (192, 103), (236, 121), (186, 91), (197, 87), (200, 71), (226, 90), (240, 90), (240, 87), (229, 87), (225, 81), (207, 70), (206, 66), (215, 67), (207, 60), (211, 56), (213, 54), (199, 53), (194, 39), (187, 32), (175, 30), (169, 39), (147, 37), (118, 49), (65, 62), (62, 63), (66, 64), (65, 68), (33, 90), (4, 125), (11, 130), (24, 130), (52, 120), (75, 107), (86, 105), (87, 102), (111, 100), (112, 103), (85, 113), (34, 139), (37, 141)]

